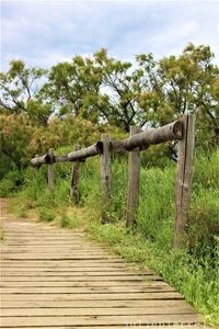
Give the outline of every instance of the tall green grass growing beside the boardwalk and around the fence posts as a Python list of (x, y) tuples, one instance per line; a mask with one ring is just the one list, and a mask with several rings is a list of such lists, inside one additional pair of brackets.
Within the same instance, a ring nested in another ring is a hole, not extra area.
[[(208, 324), (219, 326), (219, 151), (196, 156), (187, 243), (181, 250), (172, 248), (175, 164), (141, 169), (137, 225), (127, 230), (126, 160), (125, 157), (113, 159), (111, 204), (105, 224), (101, 223), (97, 158), (82, 164), (79, 205), (73, 205), (69, 197), (71, 164), (57, 163), (53, 194), (46, 186), (47, 168), (42, 167), (34, 179), (30, 168), (23, 174), (22, 190), (11, 195), (11, 208), (18, 216), (35, 216), (64, 227), (88, 230), (92, 239), (105, 243), (124, 259), (139, 263), (142, 269), (152, 268), (185, 296)], [(18, 178), (14, 177), (11, 173), (1, 182), (4, 196), (16, 190)]]

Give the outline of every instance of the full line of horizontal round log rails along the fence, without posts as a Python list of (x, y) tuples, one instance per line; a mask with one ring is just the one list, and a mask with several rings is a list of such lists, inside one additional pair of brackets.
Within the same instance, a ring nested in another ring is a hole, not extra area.
[[(169, 140), (183, 138), (183, 122), (181, 120), (159, 128), (150, 128), (146, 132), (134, 135), (129, 138), (122, 140), (111, 141), (111, 151), (131, 151), (134, 148), (139, 147), (140, 150), (147, 149), (150, 145), (155, 145)], [(49, 156), (44, 155), (42, 157), (33, 158), (31, 163), (34, 167), (42, 164), (51, 164), (54, 162), (67, 162), (84, 160), (89, 157), (94, 157), (103, 152), (102, 140), (96, 141), (94, 145), (78, 151), (72, 151), (65, 156)]]

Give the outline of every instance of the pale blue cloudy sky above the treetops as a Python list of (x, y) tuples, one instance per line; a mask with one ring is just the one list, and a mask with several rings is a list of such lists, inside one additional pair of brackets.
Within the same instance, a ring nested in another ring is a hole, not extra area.
[(122, 60), (210, 45), (219, 64), (219, 0), (0, 0), (1, 70), (11, 59), (49, 68), (100, 48)]

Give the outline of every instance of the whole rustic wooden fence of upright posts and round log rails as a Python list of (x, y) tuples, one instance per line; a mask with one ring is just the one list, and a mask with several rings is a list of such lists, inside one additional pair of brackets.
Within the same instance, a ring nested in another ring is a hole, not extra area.
[(31, 160), (34, 170), (42, 164), (48, 164), (48, 189), (54, 188), (54, 163), (72, 161), (72, 179), (70, 195), (79, 201), (78, 182), (80, 162), (93, 156), (101, 156), (101, 183), (102, 183), (102, 219), (107, 219), (107, 208), (111, 191), (111, 155), (113, 152), (128, 151), (128, 196), (127, 196), (127, 227), (136, 222), (138, 195), (140, 185), (140, 151), (150, 145), (169, 140), (178, 140), (178, 159), (175, 183), (175, 232), (174, 246), (178, 247), (184, 239), (185, 227), (188, 217), (188, 205), (192, 191), (193, 155), (195, 145), (195, 116), (183, 115), (181, 120), (159, 128), (150, 128), (142, 132), (138, 127), (130, 127), (130, 136), (127, 139), (111, 140), (110, 135), (102, 135), (101, 140), (94, 145), (81, 149), (76, 146), (73, 151), (65, 156), (55, 156), (49, 149), (47, 155), (35, 156)]

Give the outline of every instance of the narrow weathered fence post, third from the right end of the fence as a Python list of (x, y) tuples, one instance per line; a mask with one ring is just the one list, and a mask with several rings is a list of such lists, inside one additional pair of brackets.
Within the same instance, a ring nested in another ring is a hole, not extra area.
[(107, 220), (111, 189), (111, 136), (103, 134), (103, 154), (101, 155), (101, 183), (102, 183), (102, 220)]

